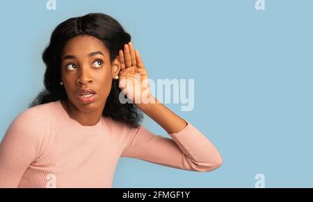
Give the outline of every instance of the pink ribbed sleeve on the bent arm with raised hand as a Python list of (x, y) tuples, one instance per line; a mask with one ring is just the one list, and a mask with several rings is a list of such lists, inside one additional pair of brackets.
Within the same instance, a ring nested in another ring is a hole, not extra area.
[(212, 171), (220, 167), (223, 160), (215, 146), (191, 123), (186, 123), (179, 133), (168, 134), (171, 139), (139, 126), (122, 157), (191, 171)]

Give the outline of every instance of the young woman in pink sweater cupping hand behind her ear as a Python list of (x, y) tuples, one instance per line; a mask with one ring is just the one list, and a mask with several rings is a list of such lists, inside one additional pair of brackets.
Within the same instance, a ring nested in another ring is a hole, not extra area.
[[(15, 117), (0, 144), (0, 187), (112, 187), (120, 157), (190, 171), (222, 164), (207, 137), (157, 101), (148, 83), (136, 88), (147, 71), (112, 17), (67, 19), (42, 59), (46, 89)], [(143, 112), (172, 138), (143, 127)]]

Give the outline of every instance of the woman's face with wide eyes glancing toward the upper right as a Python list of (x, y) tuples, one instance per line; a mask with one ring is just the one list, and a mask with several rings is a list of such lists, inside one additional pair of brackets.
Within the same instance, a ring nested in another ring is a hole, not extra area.
[[(90, 35), (79, 35), (65, 44), (61, 54), (62, 81), (67, 93), (67, 101), (83, 112), (103, 110), (111, 90), (113, 76), (118, 75), (118, 58), (110, 62), (110, 55), (104, 43)], [(95, 90), (91, 103), (79, 101), (81, 89)], [(99, 112), (102, 114), (102, 112)]]

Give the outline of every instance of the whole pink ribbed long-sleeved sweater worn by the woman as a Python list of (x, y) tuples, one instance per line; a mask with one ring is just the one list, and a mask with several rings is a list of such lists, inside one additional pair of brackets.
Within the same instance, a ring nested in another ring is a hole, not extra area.
[(28, 108), (1, 141), (0, 187), (112, 187), (120, 157), (191, 171), (220, 167), (214, 145), (186, 123), (167, 138), (109, 117), (82, 126), (60, 101)]

